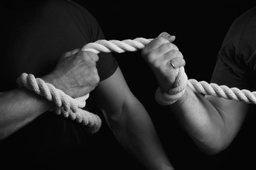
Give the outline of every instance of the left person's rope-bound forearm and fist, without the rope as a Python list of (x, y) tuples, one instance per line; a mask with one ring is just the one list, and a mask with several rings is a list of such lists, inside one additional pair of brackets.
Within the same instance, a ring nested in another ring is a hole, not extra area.
[[(99, 83), (97, 60), (97, 55), (92, 52), (78, 52), (78, 50), (66, 52), (55, 69), (42, 79), (70, 96), (85, 96)], [(52, 103), (23, 88), (1, 92), (0, 140), (50, 108)]]

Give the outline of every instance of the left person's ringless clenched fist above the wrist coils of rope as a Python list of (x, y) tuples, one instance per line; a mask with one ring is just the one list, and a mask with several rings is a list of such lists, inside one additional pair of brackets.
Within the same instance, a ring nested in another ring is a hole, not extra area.
[(94, 52), (79, 49), (65, 52), (55, 69), (42, 79), (73, 98), (85, 96), (100, 81), (96, 69), (98, 60), (99, 57)]

